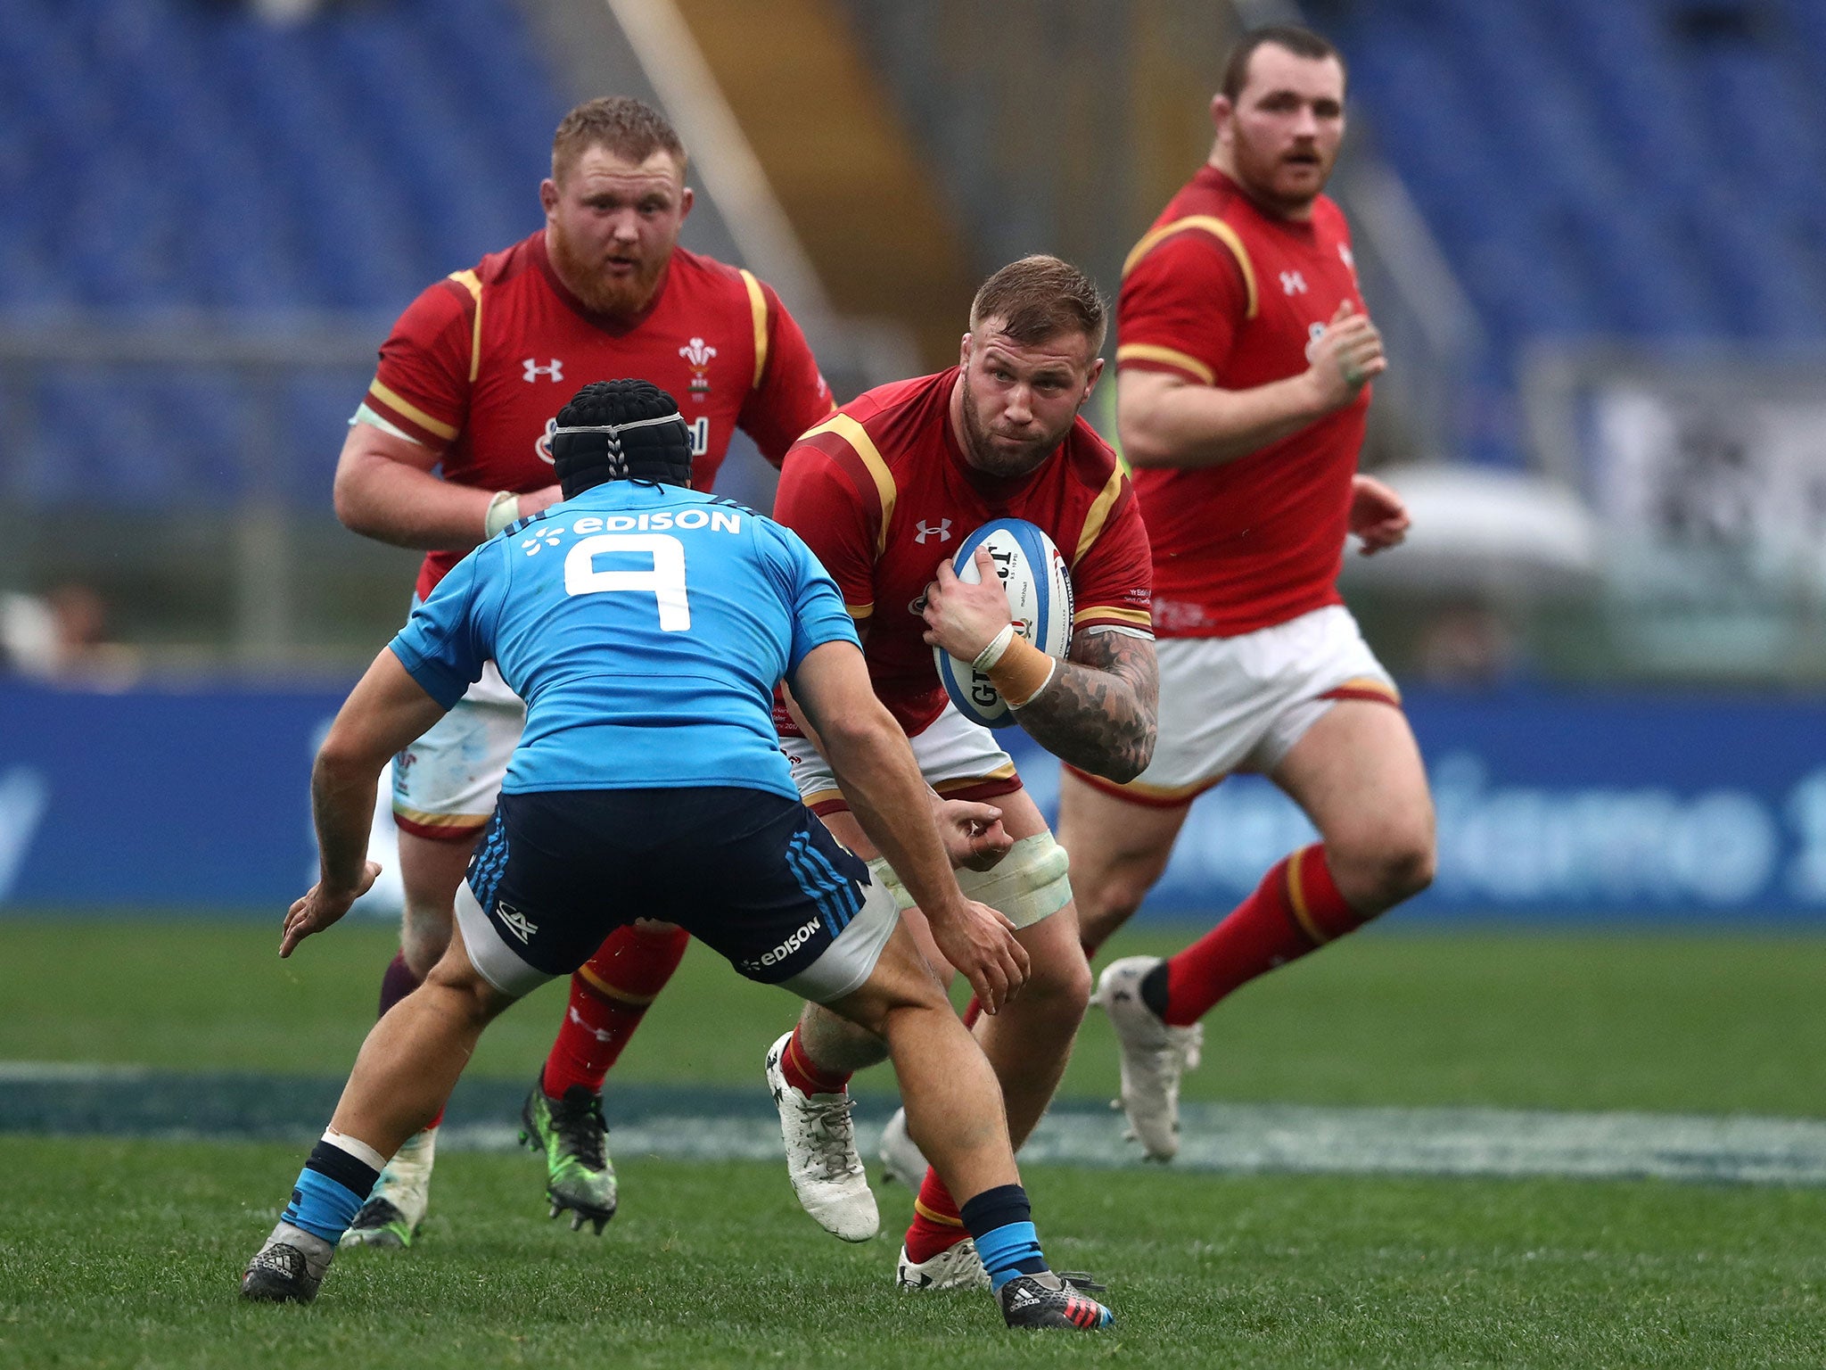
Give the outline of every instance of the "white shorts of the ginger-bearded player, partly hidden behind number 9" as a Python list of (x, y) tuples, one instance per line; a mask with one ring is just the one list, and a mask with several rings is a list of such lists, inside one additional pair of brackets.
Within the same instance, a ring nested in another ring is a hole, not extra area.
[(456, 707), (393, 758), (393, 820), (433, 842), (475, 840), (524, 727), (526, 705), (489, 661)]

